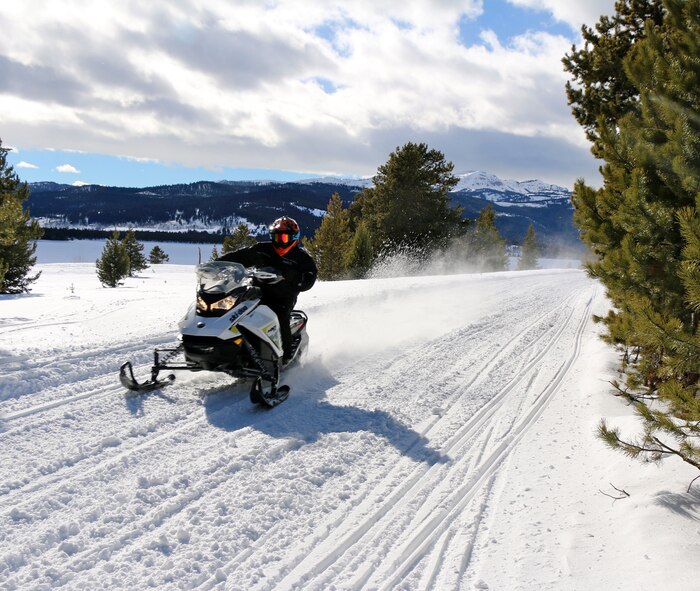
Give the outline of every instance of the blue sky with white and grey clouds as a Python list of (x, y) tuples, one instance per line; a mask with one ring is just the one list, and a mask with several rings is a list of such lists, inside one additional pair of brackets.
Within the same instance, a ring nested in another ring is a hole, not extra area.
[(0, 3), (22, 180), (370, 177), (407, 142), (463, 174), (599, 182), (562, 56), (614, 0)]

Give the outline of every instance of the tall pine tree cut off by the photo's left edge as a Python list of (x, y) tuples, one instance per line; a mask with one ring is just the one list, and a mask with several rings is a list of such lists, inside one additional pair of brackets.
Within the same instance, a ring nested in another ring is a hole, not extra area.
[(0, 293), (26, 293), (40, 275), (29, 273), (42, 230), (23, 208), (29, 187), (7, 164), (8, 152), (0, 140)]

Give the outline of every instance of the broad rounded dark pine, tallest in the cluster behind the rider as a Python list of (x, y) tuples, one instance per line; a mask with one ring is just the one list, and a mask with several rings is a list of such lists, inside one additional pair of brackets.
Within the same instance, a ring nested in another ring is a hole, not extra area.
[(442, 152), (426, 144), (409, 142), (389, 155), (377, 170), (374, 186), (365, 189), (354, 206), (375, 252), (442, 246), (454, 235), (462, 212), (449, 206), (449, 191), (459, 182), (453, 169)]

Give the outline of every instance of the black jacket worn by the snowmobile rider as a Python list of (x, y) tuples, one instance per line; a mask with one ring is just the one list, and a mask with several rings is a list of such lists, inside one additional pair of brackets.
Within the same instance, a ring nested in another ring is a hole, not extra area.
[(311, 255), (297, 245), (284, 256), (279, 256), (272, 242), (258, 242), (254, 246), (239, 248), (219, 257), (220, 261), (240, 263), (244, 267), (273, 267), (284, 281), (265, 285), (265, 298), (277, 301), (296, 302), (300, 291), (311, 289), (316, 282), (316, 263)]

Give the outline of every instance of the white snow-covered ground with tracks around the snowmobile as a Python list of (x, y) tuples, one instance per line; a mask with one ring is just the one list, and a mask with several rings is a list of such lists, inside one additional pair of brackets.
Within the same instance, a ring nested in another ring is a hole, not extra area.
[(263, 410), (215, 374), (119, 385), (176, 340), (191, 264), (39, 268), (0, 296), (0, 588), (700, 588), (697, 471), (594, 437), (637, 423), (578, 269), (318, 283)]

